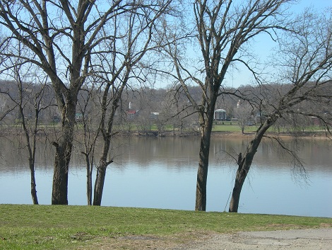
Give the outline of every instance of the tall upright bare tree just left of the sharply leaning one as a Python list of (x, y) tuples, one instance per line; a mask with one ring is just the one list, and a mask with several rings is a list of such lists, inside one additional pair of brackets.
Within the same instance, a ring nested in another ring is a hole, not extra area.
[[(197, 61), (190, 60), (186, 65), (182, 55), (185, 47), (182, 40), (176, 40), (168, 47), (166, 54), (174, 65), (172, 76), (177, 79), (182, 90), (198, 113), (201, 133), (198, 173), (196, 184), (195, 210), (206, 210), (206, 183), (208, 177), (208, 158), (213, 126), (213, 113), (218, 96), (222, 95), (223, 82), (231, 64), (240, 62), (250, 68), (249, 58), (244, 57), (245, 46), (256, 35), (269, 33), (281, 28), (280, 21), (284, 0), (248, 1), (194, 1), (194, 31), (191, 35), (197, 45)], [(168, 31), (170, 38), (177, 37), (177, 29)], [(196, 47), (194, 47), (194, 50)], [(247, 50), (246, 50), (247, 49)], [(194, 58), (195, 59), (195, 58)], [(253, 69), (251, 69), (254, 72)], [(166, 72), (167, 73), (167, 72)], [(201, 89), (200, 101), (189, 93), (189, 85), (198, 84)]]

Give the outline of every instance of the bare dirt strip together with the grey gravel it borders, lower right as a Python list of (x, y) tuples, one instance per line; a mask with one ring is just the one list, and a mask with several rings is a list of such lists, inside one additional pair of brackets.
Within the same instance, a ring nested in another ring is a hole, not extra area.
[[(233, 232), (232, 234), (218, 234), (216, 232), (185, 232), (172, 234), (169, 237), (155, 235), (126, 235), (119, 237), (103, 237), (86, 242), (80, 249), (136, 249), (136, 250), (220, 250), (220, 249), (248, 249), (258, 250), (287, 249), (316, 250), (328, 249), (331, 244), (331, 224), (322, 224), (319, 229), (299, 229), (298, 225), (271, 225), (273, 231), (266, 232)], [(280, 229), (279, 229), (280, 227)], [(297, 229), (291, 229), (295, 227)], [(285, 230), (290, 229), (290, 230)], [(309, 244), (311, 242), (312, 244)]]

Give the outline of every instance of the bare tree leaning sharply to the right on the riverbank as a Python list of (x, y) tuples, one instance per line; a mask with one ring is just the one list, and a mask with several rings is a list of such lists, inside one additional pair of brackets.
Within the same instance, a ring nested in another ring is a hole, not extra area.
[[(294, 150), (285, 146), (276, 136), (267, 136), (266, 131), (279, 120), (293, 123), (295, 127), (301, 120), (297, 117), (316, 117), (331, 134), (332, 120), (324, 115), (321, 106), (331, 105), (332, 81), (332, 20), (331, 9), (326, 16), (318, 17), (315, 13), (305, 12), (297, 18), (294, 33), (287, 33), (280, 40), (280, 50), (275, 55), (275, 67), (280, 69), (280, 83), (285, 90), (274, 91), (274, 98), (266, 93), (267, 86), (260, 86), (260, 95), (251, 99), (251, 103), (266, 113), (254, 138), (247, 145), (244, 154), (239, 153), (235, 186), (230, 201), (230, 212), (237, 212), (242, 186), (250, 170), (256, 150), (263, 137), (270, 137), (278, 142), (287, 154), (290, 154), (294, 167), (305, 174), (304, 166)], [(277, 86), (277, 85), (275, 85)], [(278, 87), (278, 86), (277, 86)], [(303, 109), (301, 104), (308, 103), (312, 108)]]

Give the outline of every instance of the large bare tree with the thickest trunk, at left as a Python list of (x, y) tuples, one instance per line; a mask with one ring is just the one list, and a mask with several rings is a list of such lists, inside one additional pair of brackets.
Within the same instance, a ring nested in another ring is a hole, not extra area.
[[(52, 81), (61, 114), (61, 136), (54, 141), (56, 156), (52, 204), (68, 204), (69, 161), (73, 149), (78, 92), (90, 74), (96, 45), (112, 39), (102, 28), (115, 16), (125, 13), (130, 1), (0, 1), (0, 23), (4, 40), (1, 57), (20, 57), (40, 67)], [(27, 58), (11, 51), (22, 42), (36, 57)]]

